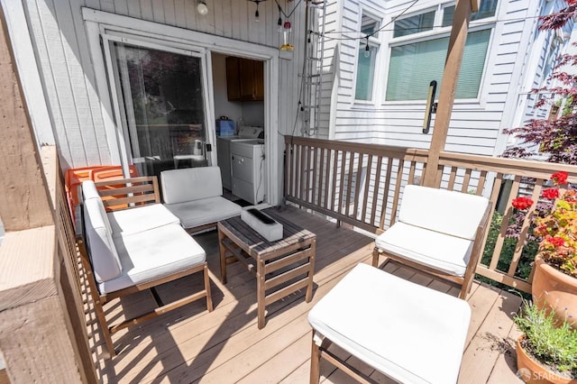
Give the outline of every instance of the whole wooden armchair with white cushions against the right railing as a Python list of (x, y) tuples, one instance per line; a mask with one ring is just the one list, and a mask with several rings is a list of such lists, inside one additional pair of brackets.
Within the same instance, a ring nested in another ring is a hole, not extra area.
[(375, 240), (372, 265), (380, 255), (461, 286), (465, 298), (482, 253), (490, 217), (486, 197), (408, 185), (398, 221)]

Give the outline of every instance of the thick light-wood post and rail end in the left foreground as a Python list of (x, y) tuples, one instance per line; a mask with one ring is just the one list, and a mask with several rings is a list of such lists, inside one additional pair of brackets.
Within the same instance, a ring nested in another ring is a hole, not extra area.
[[(14, 383), (95, 382), (94, 370), (79, 357), (66, 306), (54, 209), (2, 8), (0, 23), (0, 217), (6, 230), (0, 245), (0, 349), (5, 370)], [(53, 167), (53, 179), (55, 172)]]

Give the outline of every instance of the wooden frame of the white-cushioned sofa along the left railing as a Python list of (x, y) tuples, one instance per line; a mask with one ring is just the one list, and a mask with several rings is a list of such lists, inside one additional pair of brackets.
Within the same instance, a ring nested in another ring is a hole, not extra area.
[[(96, 183), (96, 187), (102, 186), (119, 186), (123, 185), (125, 187), (117, 187), (114, 189), (108, 189), (101, 196), (118, 196), (118, 195), (125, 195), (125, 197), (120, 197), (114, 200), (105, 200), (105, 207), (109, 206), (133, 206), (133, 204), (146, 204), (147, 202), (154, 203), (160, 202), (160, 195), (158, 193), (158, 183), (156, 181), (156, 177), (141, 177), (141, 178), (126, 178), (123, 180), (114, 180), (114, 181), (106, 181), (103, 183)], [(144, 193), (146, 191), (147, 193)], [(108, 210), (108, 209), (107, 209)], [(84, 233), (84, 218), (83, 212), (81, 209), (81, 205), (78, 206), (77, 209), (77, 225), (76, 225), (76, 242), (78, 244), (78, 251), (80, 253), (80, 260), (82, 262), (82, 267), (86, 273), (86, 279), (88, 282), (88, 288), (90, 289), (90, 296), (92, 297), (96, 316), (98, 318), (98, 323), (101, 325), (102, 333), (104, 334), (106, 347), (108, 352), (110, 353), (110, 357), (114, 357), (116, 355), (116, 351), (114, 349), (114, 343), (112, 342), (112, 334), (120, 331), (131, 325), (138, 325), (146, 320), (150, 320), (154, 317), (159, 315), (165, 314), (173, 309), (177, 309), (181, 306), (185, 306), (193, 301), (202, 299), (206, 297), (206, 307), (208, 312), (212, 312), (213, 310), (213, 302), (210, 293), (210, 279), (208, 277), (208, 266), (206, 261), (200, 265), (197, 265), (192, 268), (188, 268), (187, 270), (180, 270), (178, 273), (174, 273), (169, 276), (164, 276), (159, 279), (153, 279), (146, 283), (136, 284), (132, 287), (120, 289), (108, 294), (101, 294), (98, 290), (96, 285), (96, 277), (94, 275), (94, 271), (92, 270), (92, 263), (90, 261), (90, 256), (87, 251), (86, 241), (85, 241), (85, 233)], [(183, 278), (185, 276), (191, 275), (193, 273), (202, 272), (204, 278), (204, 288), (196, 293), (188, 295), (187, 297), (179, 298), (179, 300), (164, 304), (160, 299), (160, 296), (157, 294), (155, 287), (160, 286), (160, 284), (167, 283), (169, 281), (173, 281), (176, 279)], [(105, 310), (104, 306), (109, 301), (113, 300), (114, 298), (124, 297), (127, 295), (131, 295), (136, 292), (140, 292), (142, 290), (150, 289), (152, 297), (156, 301), (157, 307), (151, 310), (150, 312), (133, 317), (131, 319), (126, 319), (124, 322), (118, 325), (110, 326), (106, 322), (105, 317)]]

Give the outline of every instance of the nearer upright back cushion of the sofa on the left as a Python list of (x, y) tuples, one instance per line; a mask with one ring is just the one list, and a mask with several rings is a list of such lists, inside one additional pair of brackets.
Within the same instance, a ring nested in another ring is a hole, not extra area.
[(120, 276), (122, 264), (114, 247), (110, 223), (100, 198), (89, 198), (84, 202), (84, 223), (96, 281), (102, 283)]

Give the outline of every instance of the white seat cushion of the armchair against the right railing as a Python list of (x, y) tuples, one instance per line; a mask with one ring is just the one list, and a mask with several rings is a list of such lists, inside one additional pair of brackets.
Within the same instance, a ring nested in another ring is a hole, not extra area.
[(375, 239), (381, 250), (435, 270), (463, 277), (473, 242), (405, 223), (396, 223)]

